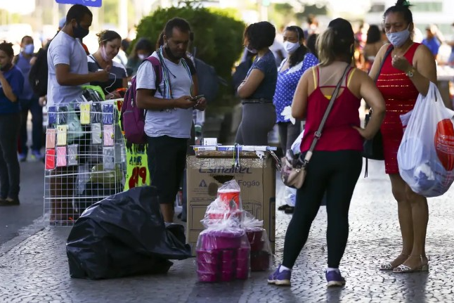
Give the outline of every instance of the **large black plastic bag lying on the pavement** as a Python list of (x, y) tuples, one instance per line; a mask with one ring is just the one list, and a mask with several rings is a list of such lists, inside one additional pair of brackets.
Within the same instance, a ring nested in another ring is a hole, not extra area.
[(67, 238), (72, 278), (166, 273), (169, 259), (191, 257), (184, 228), (166, 226), (151, 186), (131, 188), (87, 208)]

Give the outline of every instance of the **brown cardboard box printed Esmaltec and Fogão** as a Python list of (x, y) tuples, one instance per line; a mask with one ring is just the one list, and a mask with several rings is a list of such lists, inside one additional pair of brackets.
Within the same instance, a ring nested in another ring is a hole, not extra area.
[[(209, 155), (207, 152), (207, 155)], [(212, 153), (212, 152), (211, 152)], [(275, 240), (275, 162), (266, 152), (259, 158), (255, 153), (240, 153), (240, 169), (233, 169), (233, 152), (217, 151), (216, 157), (187, 157), (188, 225), (186, 240), (193, 247), (199, 233), (205, 228), (200, 222), (209, 203), (216, 199), (221, 185), (235, 179), (241, 188), (243, 209), (259, 220), (274, 252)]]

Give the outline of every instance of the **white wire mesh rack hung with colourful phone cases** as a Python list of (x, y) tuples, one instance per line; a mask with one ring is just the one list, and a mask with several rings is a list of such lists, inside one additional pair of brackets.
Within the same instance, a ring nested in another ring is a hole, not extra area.
[(126, 156), (117, 101), (48, 107), (44, 224), (70, 226), (124, 189)]

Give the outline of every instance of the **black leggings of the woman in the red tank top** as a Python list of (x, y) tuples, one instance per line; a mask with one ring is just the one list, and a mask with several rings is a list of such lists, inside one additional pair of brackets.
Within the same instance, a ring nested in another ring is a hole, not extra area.
[(294, 266), (326, 191), (328, 267), (339, 267), (349, 237), (351, 195), (362, 166), (363, 158), (356, 150), (313, 153), (285, 234), (283, 266)]

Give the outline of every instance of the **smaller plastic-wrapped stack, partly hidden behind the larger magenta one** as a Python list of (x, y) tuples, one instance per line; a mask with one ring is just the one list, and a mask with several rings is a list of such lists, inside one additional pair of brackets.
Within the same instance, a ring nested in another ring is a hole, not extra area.
[(241, 226), (245, 228), (247, 240), (251, 246), (251, 271), (267, 271), (273, 262), (271, 245), (264, 221), (255, 219), (249, 212), (243, 212)]

